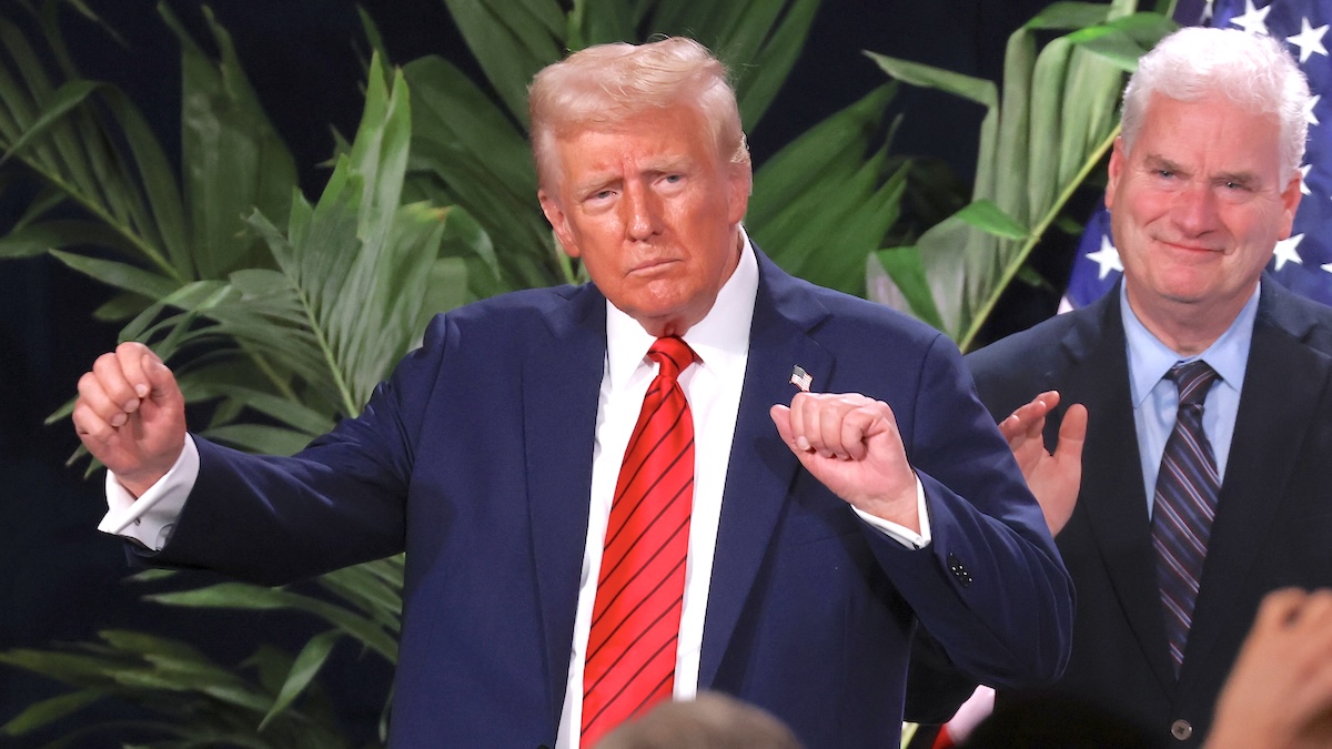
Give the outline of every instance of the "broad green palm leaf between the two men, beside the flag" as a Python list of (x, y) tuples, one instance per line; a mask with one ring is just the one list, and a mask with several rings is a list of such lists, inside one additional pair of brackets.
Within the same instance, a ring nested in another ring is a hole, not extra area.
[[(1008, 39), (1003, 97), (987, 80), (868, 53), (890, 76), (986, 107), (972, 201), (914, 245), (875, 253), (871, 297), (948, 333), (967, 351), (1119, 135), (1124, 72), (1175, 28), (1172, 0), (1055, 3)], [(1038, 39), (1068, 31), (1047, 41)]]

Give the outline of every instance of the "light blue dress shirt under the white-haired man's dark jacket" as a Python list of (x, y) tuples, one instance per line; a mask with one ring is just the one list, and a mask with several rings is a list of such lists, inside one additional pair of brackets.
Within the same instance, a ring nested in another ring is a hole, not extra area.
[(1124, 321), (1124, 340), (1128, 347), (1128, 389), (1134, 401), (1134, 424), (1138, 428), (1138, 452), (1143, 462), (1143, 488), (1147, 490), (1147, 514), (1151, 517), (1152, 497), (1156, 494), (1156, 474), (1160, 470), (1166, 440), (1175, 429), (1179, 410), (1179, 390), (1166, 378), (1169, 368), (1181, 361), (1201, 359), (1221, 378), (1212, 382), (1203, 401), (1203, 430), (1212, 442), (1216, 469), (1225, 481), (1225, 464), (1235, 436), (1235, 416), (1240, 408), (1240, 389), (1248, 367), (1249, 343), (1253, 340), (1253, 320), (1257, 319), (1259, 289), (1244, 303), (1231, 327), (1207, 351), (1197, 356), (1180, 357), (1163, 344), (1138, 320), (1128, 307), (1123, 284), (1119, 287), (1119, 311)]

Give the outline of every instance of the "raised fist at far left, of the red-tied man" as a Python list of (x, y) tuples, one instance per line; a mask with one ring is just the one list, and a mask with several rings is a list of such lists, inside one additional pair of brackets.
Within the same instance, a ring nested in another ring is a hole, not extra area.
[(133, 496), (156, 484), (185, 446), (185, 398), (148, 347), (124, 343), (79, 378), (75, 432)]

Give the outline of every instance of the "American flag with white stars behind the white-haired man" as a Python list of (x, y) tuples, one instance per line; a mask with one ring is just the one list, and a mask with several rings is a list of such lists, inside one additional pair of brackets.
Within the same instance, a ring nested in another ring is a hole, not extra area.
[[(1291, 239), (1277, 243), (1268, 271), (1287, 288), (1332, 304), (1332, 59), (1324, 40), (1332, 0), (1208, 0), (1201, 23), (1241, 28), (1285, 40), (1285, 48), (1309, 79), (1313, 101), (1305, 113), (1309, 143), (1304, 155), (1304, 196)], [(1064, 301), (1076, 308), (1106, 293), (1123, 273), (1110, 239), (1104, 208), (1087, 221)]]

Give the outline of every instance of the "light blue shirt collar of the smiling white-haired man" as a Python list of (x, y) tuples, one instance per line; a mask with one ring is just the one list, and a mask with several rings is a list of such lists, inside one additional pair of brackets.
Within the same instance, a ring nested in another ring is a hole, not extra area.
[(1248, 351), (1253, 341), (1253, 321), (1257, 319), (1257, 297), (1261, 288), (1261, 284), (1256, 285), (1253, 295), (1240, 308), (1240, 313), (1235, 316), (1231, 327), (1212, 341), (1212, 345), (1197, 356), (1180, 359), (1179, 353), (1163, 344), (1143, 325), (1128, 305), (1124, 284), (1120, 284), (1119, 312), (1124, 323), (1124, 337), (1128, 341), (1128, 380), (1134, 408), (1143, 405), (1152, 388), (1169, 372), (1171, 367), (1196, 359), (1205, 361), (1221, 376), (1223, 386), (1239, 393), (1240, 385), (1244, 382), (1244, 371), (1248, 367)]

